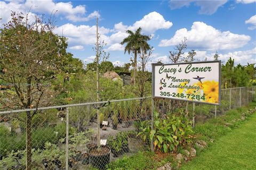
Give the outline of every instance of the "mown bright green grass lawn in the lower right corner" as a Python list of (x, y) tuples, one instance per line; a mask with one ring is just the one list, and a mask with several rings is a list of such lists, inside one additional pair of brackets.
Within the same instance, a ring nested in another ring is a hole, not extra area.
[(255, 169), (256, 114), (220, 137), (181, 169)]

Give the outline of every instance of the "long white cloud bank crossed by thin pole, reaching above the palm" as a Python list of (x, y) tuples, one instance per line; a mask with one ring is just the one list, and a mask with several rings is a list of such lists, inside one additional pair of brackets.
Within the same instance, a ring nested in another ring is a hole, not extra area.
[[(153, 33), (158, 29), (168, 29), (172, 26), (170, 21), (165, 21), (163, 16), (157, 12), (151, 12), (145, 15), (141, 20), (134, 22), (133, 25), (127, 26), (122, 22), (115, 24), (114, 29), (107, 29), (104, 27), (99, 28), (101, 39), (105, 40), (107, 45), (111, 45), (109, 50), (121, 50), (121, 46), (117, 45), (127, 37), (126, 30), (130, 29), (135, 31), (139, 27), (142, 27), (143, 32)], [(95, 43), (96, 36), (95, 25), (74, 25), (67, 23), (55, 29), (55, 33), (68, 37), (70, 44), (85, 44), (93, 45)], [(111, 35), (108, 35), (112, 33)], [(116, 44), (116, 45), (114, 45)], [(123, 49), (122, 49), (123, 50)]]

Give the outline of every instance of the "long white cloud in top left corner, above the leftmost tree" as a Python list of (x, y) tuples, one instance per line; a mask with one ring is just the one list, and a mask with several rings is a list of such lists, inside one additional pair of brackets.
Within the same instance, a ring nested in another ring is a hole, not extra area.
[(0, 2), (0, 18), (1, 22), (6, 23), (10, 20), (11, 11), (15, 12), (28, 12), (39, 13), (39, 14), (51, 14), (55, 13), (57, 16), (64, 16), (70, 21), (89, 21), (93, 18), (100, 17), (99, 12), (94, 11), (93, 13), (86, 16), (85, 5), (73, 6), (71, 2), (54, 2), (53, 0), (27, 0), (27, 1), (11, 1)]

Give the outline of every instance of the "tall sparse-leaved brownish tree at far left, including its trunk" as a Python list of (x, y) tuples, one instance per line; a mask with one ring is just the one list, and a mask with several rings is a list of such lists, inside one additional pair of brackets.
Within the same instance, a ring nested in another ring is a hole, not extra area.
[[(37, 109), (54, 102), (58, 88), (49, 85), (56, 74), (70, 70), (67, 61), (71, 56), (66, 52), (67, 39), (54, 35), (53, 29), (51, 20), (44, 22), (35, 16), (31, 21), (28, 14), (12, 12), (11, 21), (0, 30), (0, 65), (4, 71), (0, 79), (12, 84), (11, 91), (3, 94), (7, 100), (0, 101), (2, 108)], [(37, 110), (26, 112), (26, 169), (33, 168), (31, 120), (35, 114)]]

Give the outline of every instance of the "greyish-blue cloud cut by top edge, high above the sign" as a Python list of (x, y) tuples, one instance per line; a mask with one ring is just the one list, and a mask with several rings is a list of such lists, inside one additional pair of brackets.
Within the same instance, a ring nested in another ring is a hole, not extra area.
[(171, 0), (170, 1), (170, 7), (171, 9), (176, 9), (176, 8), (181, 8), (183, 6), (188, 7), (190, 3), (195, 3), (197, 6), (200, 6), (199, 13), (200, 14), (213, 14), (215, 13), (218, 8), (224, 4), (226, 4), (228, 0), (218, 0), (218, 1), (213, 1), (213, 0)]

